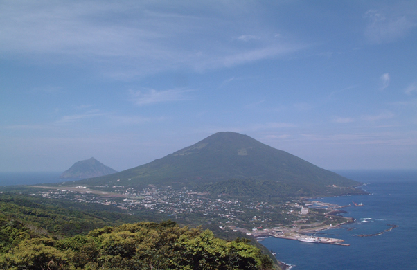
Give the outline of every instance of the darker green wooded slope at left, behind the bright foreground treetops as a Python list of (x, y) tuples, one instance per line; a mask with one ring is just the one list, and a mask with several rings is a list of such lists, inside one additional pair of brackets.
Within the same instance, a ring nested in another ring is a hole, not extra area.
[[(30, 228), (26, 232), (33, 231), (46, 235), (52, 233), (56, 236), (72, 236), (106, 225), (136, 222), (139, 220), (139, 217), (115, 212), (118, 211), (118, 208), (100, 207), (102, 210), (98, 210), (98, 206), (91, 204), (87, 206), (71, 201), (1, 193), (0, 211), (10, 220), (0, 220), (0, 224), (3, 225), (1, 226), (0, 237), (3, 239), (7, 235), (13, 235), (16, 228), (21, 228), (23, 223), (25, 224), (24, 226)], [(8, 223), (13, 222), (13, 220), (15, 220), (15, 225)], [(16, 223), (16, 220), (19, 220), (20, 223)], [(21, 231), (21, 233), (24, 232)], [(4, 242), (10, 241), (4, 240)], [(1, 243), (0, 249), (5, 248), (4, 244)]]

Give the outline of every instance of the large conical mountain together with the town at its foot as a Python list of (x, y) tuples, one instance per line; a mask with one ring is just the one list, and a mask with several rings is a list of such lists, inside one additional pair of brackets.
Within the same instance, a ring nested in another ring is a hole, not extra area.
[(218, 132), (145, 165), (103, 177), (32, 186), (30, 195), (116, 206), (145, 220), (175, 219), (222, 236), (276, 236), (271, 232), (281, 231), (285, 233), (279, 237), (298, 240), (303, 239), (302, 230), (352, 222), (335, 215), (338, 206), (312, 207), (308, 199), (367, 194), (357, 188), (360, 184), (247, 135)]

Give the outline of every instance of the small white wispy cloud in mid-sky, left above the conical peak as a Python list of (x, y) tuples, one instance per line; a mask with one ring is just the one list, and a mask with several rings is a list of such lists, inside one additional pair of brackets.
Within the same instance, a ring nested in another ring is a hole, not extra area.
[(133, 91), (130, 90), (132, 101), (136, 105), (151, 105), (161, 102), (174, 102), (181, 100), (190, 100), (190, 97), (186, 96), (185, 93), (194, 91), (192, 89), (168, 89), (164, 91), (157, 91), (150, 89), (148, 91)]

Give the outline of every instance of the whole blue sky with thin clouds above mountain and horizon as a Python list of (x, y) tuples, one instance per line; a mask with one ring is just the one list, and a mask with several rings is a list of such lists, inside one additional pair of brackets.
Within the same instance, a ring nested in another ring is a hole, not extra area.
[(0, 172), (121, 171), (222, 131), (417, 169), (417, 1), (0, 0)]

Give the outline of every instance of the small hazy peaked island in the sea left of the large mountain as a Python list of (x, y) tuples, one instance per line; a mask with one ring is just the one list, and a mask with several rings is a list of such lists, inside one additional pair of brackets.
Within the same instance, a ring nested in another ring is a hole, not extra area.
[(78, 161), (74, 163), (71, 168), (61, 174), (60, 178), (86, 179), (91, 177), (102, 177), (104, 175), (114, 174), (116, 172), (116, 170), (107, 167), (92, 157), (91, 159), (86, 159), (85, 161)]

